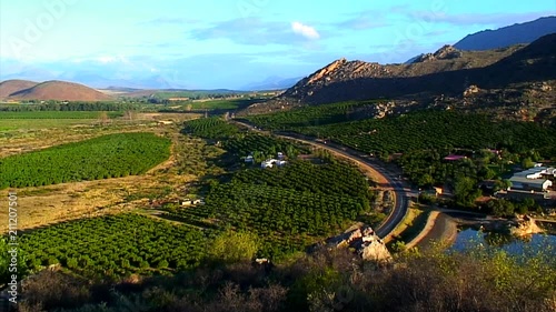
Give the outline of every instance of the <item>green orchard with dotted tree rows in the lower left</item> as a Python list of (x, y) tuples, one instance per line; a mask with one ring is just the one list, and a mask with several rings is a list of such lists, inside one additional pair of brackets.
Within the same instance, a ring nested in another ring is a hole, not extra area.
[(135, 213), (82, 219), (20, 236), (31, 270), (61, 264), (86, 276), (150, 274), (197, 266), (211, 231)]

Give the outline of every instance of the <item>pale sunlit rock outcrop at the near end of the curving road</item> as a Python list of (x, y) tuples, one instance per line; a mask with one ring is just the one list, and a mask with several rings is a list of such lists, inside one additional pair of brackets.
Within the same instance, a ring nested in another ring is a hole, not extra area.
[(331, 238), (328, 244), (336, 248), (353, 248), (366, 261), (384, 262), (391, 259), (384, 241), (368, 225)]

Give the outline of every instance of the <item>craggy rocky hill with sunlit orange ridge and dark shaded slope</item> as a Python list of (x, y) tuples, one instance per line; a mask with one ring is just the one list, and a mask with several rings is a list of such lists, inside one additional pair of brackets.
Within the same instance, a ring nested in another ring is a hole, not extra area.
[[(556, 34), (528, 46), (488, 51), (461, 51), (445, 46), (410, 64), (369, 63), (340, 59), (316, 71), (267, 104), (248, 113), (304, 104), (385, 99), (393, 111), (409, 108), (484, 109), (535, 105), (554, 111)], [(387, 100), (386, 100), (387, 99)]]

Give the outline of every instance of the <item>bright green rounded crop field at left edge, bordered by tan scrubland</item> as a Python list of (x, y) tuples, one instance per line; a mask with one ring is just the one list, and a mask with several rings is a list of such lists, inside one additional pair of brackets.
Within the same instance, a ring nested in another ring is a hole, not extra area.
[(0, 189), (140, 174), (169, 157), (152, 133), (109, 134), (0, 159)]

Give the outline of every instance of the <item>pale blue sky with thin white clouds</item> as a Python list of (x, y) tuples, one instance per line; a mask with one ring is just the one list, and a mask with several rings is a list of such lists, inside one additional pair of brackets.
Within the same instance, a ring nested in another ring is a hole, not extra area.
[(0, 80), (245, 89), (555, 14), (556, 0), (2, 0)]

